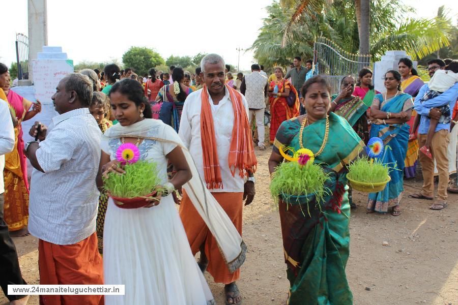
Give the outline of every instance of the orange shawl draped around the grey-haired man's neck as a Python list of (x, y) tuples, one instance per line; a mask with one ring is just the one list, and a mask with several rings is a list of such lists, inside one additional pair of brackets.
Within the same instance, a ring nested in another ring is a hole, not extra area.
[[(238, 168), (240, 176), (245, 177), (248, 175), (247, 170), (254, 172), (257, 164), (256, 157), (254, 156), (251, 129), (245, 107), (242, 103), (242, 96), (235, 89), (227, 85), (225, 87), (229, 91), (232, 108), (234, 109), (234, 127), (232, 129), (228, 165), (233, 176), (235, 176), (236, 168)], [(207, 85), (204, 85), (202, 90), (201, 138), (207, 188), (223, 188), (218, 150), (216, 148), (215, 127), (213, 124), (212, 109), (208, 99)]]

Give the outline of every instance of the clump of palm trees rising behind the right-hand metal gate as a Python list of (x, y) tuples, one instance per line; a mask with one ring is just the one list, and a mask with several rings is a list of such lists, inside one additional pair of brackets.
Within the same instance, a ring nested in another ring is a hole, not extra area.
[(449, 45), (456, 28), (441, 16), (406, 18), (413, 9), (400, 0), (280, 0), (266, 9), (269, 17), (251, 49), (255, 58), (271, 62), (279, 62), (281, 56), (311, 56), (314, 38), (319, 36), (350, 53), (369, 53), (374, 60), (389, 49), (406, 50), (417, 59)]

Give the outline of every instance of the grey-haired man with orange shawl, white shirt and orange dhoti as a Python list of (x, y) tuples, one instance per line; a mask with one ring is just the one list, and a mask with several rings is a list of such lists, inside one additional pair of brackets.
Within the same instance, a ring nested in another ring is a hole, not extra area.
[[(180, 138), (189, 149), (199, 175), (207, 188), (242, 234), (242, 207), (254, 198), (253, 173), (257, 164), (248, 123), (248, 104), (243, 95), (225, 85), (224, 60), (208, 54), (201, 61), (204, 87), (185, 101)], [(220, 254), (215, 238), (198, 215), (186, 192), (180, 217), (195, 255), (201, 252), (199, 266), (223, 283), (226, 304), (241, 304), (236, 285), (240, 270), (231, 272)]]

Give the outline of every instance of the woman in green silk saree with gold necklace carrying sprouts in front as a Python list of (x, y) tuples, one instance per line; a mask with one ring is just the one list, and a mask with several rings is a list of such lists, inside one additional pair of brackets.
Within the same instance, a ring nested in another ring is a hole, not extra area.
[[(283, 162), (280, 149), (304, 148), (314, 153), (314, 163), (330, 175), (326, 182), (329, 195), (321, 208), (309, 201), (310, 215), (303, 214), (305, 204), (279, 201), (283, 250), (290, 281), (288, 304), (352, 304), (353, 296), (345, 275), (350, 253), (350, 205), (347, 194), (347, 167), (365, 154), (364, 142), (347, 120), (328, 113), (330, 86), (320, 75), (308, 79), (301, 90), (301, 103), (307, 114), (284, 121), (275, 137), (269, 170), (273, 173)], [(328, 126), (328, 127), (326, 127)], [(328, 130), (328, 137), (325, 136)], [(327, 138), (327, 140), (326, 140)], [(321, 154), (317, 154), (324, 147)], [(289, 151), (289, 153), (291, 153)]]

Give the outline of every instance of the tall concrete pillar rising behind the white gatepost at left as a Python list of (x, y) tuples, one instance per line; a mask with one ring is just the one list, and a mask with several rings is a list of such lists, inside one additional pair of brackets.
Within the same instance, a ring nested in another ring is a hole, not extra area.
[(48, 17), (46, 0), (27, 0), (29, 79), (33, 81), (32, 59), (48, 45)]

